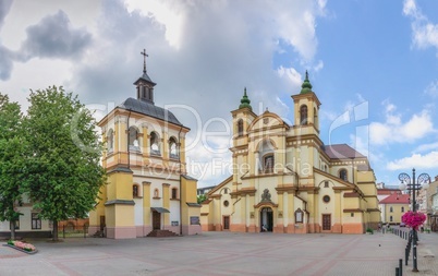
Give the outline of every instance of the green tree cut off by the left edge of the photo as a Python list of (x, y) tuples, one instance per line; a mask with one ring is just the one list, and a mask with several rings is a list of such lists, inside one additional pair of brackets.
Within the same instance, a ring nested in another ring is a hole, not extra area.
[(26, 142), (22, 133), (23, 115), (17, 103), (10, 103), (0, 93), (0, 221), (11, 223), (11, 239), (15, 239), (16, 221), (23, 203)]

